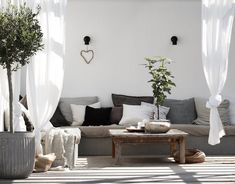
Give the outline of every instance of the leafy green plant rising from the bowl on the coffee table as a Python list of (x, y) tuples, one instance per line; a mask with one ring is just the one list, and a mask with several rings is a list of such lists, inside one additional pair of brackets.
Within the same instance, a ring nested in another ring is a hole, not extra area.
[(144, 64), (144, 66), (148, 69), (149, 74), (152, 77), (148, 82), (152, 84), (153, 96), (157, 107), (157, 115), (155, 116), (157, 117), (157, 120), (160, 120), (160, 106), (163, 105), (167, 97), (166, 94), (171, 94), (172, 87), (176, 86), (172, 81), (174, 76), (166, 67), (167, 64), (171, 63), (171, 60), (162, 56), (152, 58), (146, 57), (145, 60), (147, 63)]

